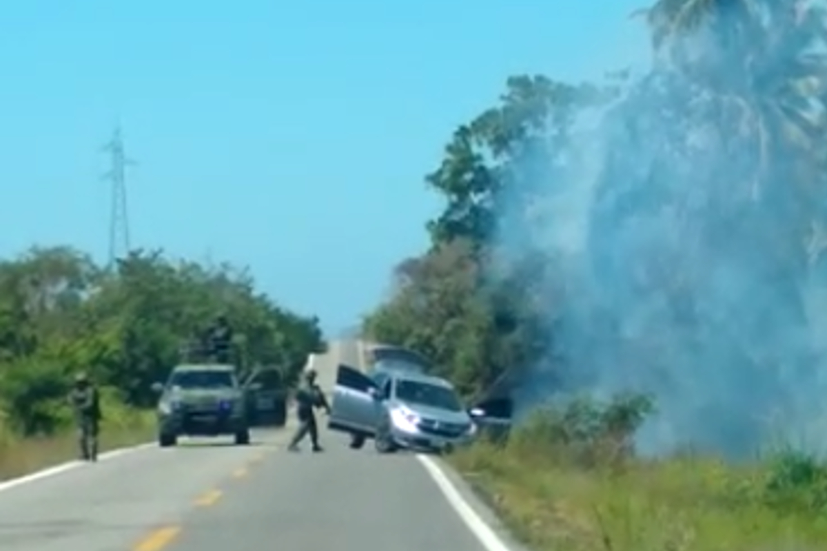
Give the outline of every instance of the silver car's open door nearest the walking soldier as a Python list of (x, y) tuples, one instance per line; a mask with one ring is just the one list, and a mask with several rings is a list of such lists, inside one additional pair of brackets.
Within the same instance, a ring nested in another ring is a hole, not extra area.
[(339, 365), (327, 427), (330, 430), (372, 434), (375, 392), (375, 383), (365, 373)]

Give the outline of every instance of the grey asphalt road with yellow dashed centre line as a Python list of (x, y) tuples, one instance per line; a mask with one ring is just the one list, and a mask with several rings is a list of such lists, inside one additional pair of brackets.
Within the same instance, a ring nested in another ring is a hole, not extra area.
[[(318, 357), (358, 363), (356, 344)], [(322, 378), (324, 375), (322, 375)], [(481, 551), (413, 454), (380, 456), (325, 435), (290, 454), (289, 431), (250, 447), (149, 446), (0, 487), (2, 551)]]

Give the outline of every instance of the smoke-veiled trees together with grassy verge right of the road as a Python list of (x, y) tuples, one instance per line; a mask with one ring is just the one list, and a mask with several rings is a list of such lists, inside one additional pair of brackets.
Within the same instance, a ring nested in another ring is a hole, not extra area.
[(825, 548), (820, 9), (657, 2), (647, 72), (508, 78), (428, 174), (362, 334), (532, 411), (453, 461), (533, 549)]

